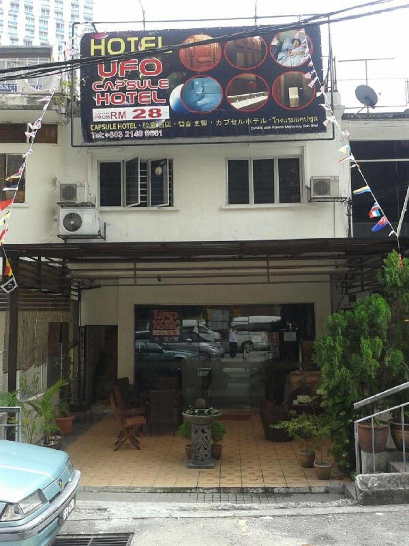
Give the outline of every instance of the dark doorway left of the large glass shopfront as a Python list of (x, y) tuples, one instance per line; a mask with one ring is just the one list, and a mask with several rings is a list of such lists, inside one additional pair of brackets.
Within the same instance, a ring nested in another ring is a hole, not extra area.
[(88, 400), (107, 400), (117, 378), (118, 326), (88, 324), (85, 336)]

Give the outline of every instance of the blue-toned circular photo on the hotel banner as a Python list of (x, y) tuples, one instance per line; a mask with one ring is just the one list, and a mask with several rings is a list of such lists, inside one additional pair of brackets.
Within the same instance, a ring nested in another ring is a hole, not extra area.
[(218, 108), (223, 90), (218, 81), (210, 76), (194, 76), (185, 81), (181, 90), (181, 102), (194, 114), (212, 112)]

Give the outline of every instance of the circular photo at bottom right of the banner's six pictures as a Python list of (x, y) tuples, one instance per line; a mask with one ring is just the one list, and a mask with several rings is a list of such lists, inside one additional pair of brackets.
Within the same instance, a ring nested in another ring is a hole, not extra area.
[(315, 84), (305, 74), (291, 70), (275, 79), (272, 94), (276, 103), (288, 110), (305, 108), (315, 97)]

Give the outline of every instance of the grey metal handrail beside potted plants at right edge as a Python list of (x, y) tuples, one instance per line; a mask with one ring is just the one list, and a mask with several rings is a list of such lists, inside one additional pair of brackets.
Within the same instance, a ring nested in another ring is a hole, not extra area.
[[(397, 385), (396, 387), (392, 387), (392, 389), (384, 390), (382, 393), (375, 394), (374, 396), (369, 396), (368, 398), (365, 398), (364, 400), (360, 400), (359, 402), (354, 403), (353, 408), (354, 410), (357, 410), (358, 408), (361, 408), (363, 406), (367, 406), (370, 403), (377, 402), (379, 400), (382, 400), (386, 398), (387, 396), (391, 396), (396, 393), (400, 393), (402, 390), (409, 389), (409, 381), (406, 383), (402, 383), (401, 385)], [(372, 429), (372, 468), (375, 474), (375, 433), (374, 433), (374, 417), (381, 415), (382, 413), (391, 412), (394, 410), (399, 410), (400, 408), (400, 418), (401, 418), (401, 426), (402, 426), (402, 451), (404, 456), (404, 473), (406, 473), (406, 445), (405, 445), (405, 421), (404, 421), (404, 407), (409, 406), (409, 402), (405, 402), (402, 404), (399, 404), (398, 406), (393, 406), (390, 408), (387, 408), (386, 410), (381, 410), (375, 413), (372, 413), (370, 416), (367, 417), (361, 417), (360, 419), (356, 419), (353, 423), (354, 425), (354, 436), (355, 436), (355, 462), (356, 462), (356, 473), (357, 475), (360, 474), (360, 459), (359, 459), (359, 439), (358, 439), (358, 424), (363, 423), (364, 421), (371, 420), (371, 429)]]

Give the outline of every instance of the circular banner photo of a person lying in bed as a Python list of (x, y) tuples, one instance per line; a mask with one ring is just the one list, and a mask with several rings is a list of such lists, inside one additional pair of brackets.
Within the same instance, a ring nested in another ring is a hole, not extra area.
[(304, 31), (279, 32), (270, 43), (270, 54), (283, 67), (299, 67), (309, 61), (312, 41)]

